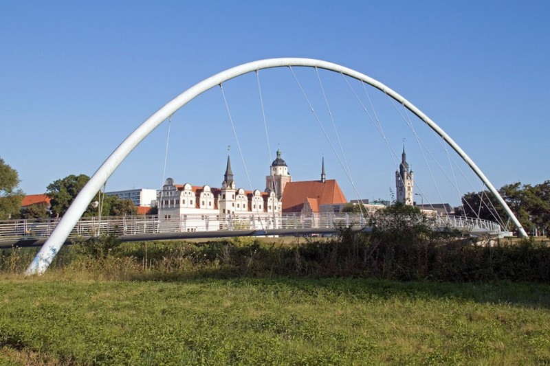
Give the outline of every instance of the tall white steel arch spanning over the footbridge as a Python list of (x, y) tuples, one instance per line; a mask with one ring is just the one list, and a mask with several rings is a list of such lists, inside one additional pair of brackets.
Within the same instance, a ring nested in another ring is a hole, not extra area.
[(494, 188), (492, 183), (489, 182), (489, 179), (487, 179), (485, 174), (483, 174), (483, 172), (481, 172), (478, 166), (474, 163), (474, 161), (472, 161), (472, 159), (470, 159), (470, 157), (466, 155), (466, 153), (460, 148), (460, 146), (458, 146), (458, 144), (456, 144), (456, 142), (454, 142), (454, 140), (449, 135), (447, 135), (445, 131), (443, 131), (435, 122), (433, 122), (432, 119), (422, 113), (419, 108), (417, 108), (408, 100), (399, 95), (399, 93), (396, 93), (391, 88), (388, 88), (386, 87), (386, 85), (382, 84), (382, 82), (370, 78), (363, 73), (341, 65), (334, 64), (332, 62), (315, 60), (311, 58), (269, 58), (266, 60), (248, 62), (243, 65), (239, 65), (236, 67), (232, 67), (231, 69), (222, 71), (221, 73), (217, 73), (214, 76), (210, 76), (210, 78), (207, 78), (199, 82), (198, 84), (195, 84), (193, 87), (190, 87), (189, 89), (178, 95), (176, 98), (168, 102), (165, 106), (163, 106), (153, 115), (151, 115), (151, 117), (146, 119), (145, 122), (137, 127), (133, 131), (133, 133), (129, 135), (129, 137), (126, 137), (126, 139), (122, 141), (122, 144), (120, 144), (118, 148), (116, 148), (111, 153), (111, 155), (109, 155), (107, 160), (104, 161), (104, 163), (85, 185), (83, 190), (81, 190), (78, 196), (76, 196), (74, 202), (69, 207), (69, 209), (67, 209), (67, 212), (58, 223), (56, 229), (54, 230), (50, 238), (48, 238), (47, 241), (44, 243), (39, 253), (36, 254), (36, 257), (34, 258), (34, 260), (32, 260), (25, 273), (28, 275), (44, 273), (47, 267), (50, 266), (50, 263), (54, 259), (54, 256), (63, 246), (65, 240), (67, 240), (69, 233), (72, 231), (74, 225), (76, 225), (76, 222), (78, 222), (80, 217), (84, 214), (84, 211), (88, 207), (89, 203), (94, 198), (96, 193), (100, 190), (102, 185), (107, 181), (109, 176), (113, 174), (115, 169), (118, 168), (118, 165), (120, 165), (120, 163), (122, 163), (122, 161), (126, 159), (126, 157), (135, 148), (135, 146), (137, 146), (137, 144), (140, 144), (140, 142), (147, 135), (149, 135), (149, 133), (151, 133), (157, 126), (159, 126), (159, 124), (164, 122), (164, 120), (172, 115), (175, 111), (177, 111), (179, 108), (190, 102), (192, 99), (196, 98), (201, 93), (207, 91), (208, 89), (212, 89), (213, 87), (216, 87), (217, 85), (227, 80), (236, 78), (237, 76), (241, 76), (245, 73), (261, 69), (291, 66), (316, 67), (319, 69), (326, 69), (329, 71), (342, 73), (346, 76), (361, 80), (362, 82), (366, 82), (367, 84), (377, 89), (380, 89), (380, 91), (386, 93), (387, 95), (391, 96), (391, 98), (397, 100), (397, 102), (403, 104), (409, 111), (417, 115), (417, 117), (419, 117), (430, 128), (432, 128), (432, 130), (434, 130), (439, 136), (443, 137), (443, 139), (454, 149), (454, 151), (456, 151), (456, 153), (460, 155), (460, 157), (481, 179), (481, 181), (485, 183), (489, 191), (494, 194), (500, 205), (504, 207), (509, 218), (512, 220), (512, 222), (514, 222), (514, 224), (520, 231), (520, 234), (524, 237), (527, 237), (527, 233), (521, 226), (514, 213), (505, 203), (500, 194), (498, 194), (498, 191)]

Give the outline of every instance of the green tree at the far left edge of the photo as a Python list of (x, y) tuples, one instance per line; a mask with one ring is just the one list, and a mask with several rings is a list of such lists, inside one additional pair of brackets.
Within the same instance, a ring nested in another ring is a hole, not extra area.
[(15, 218), (19, 215), (25, 194), (17, 187), (18, 185), (17, 170), (0, 158), (0, 220)]

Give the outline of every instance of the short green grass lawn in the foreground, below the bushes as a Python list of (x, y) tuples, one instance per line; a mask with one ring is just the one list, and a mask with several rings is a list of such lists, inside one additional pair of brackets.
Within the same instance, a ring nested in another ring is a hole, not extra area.
[(550, 286), (0, 277), (0, 363), (550, 364)]

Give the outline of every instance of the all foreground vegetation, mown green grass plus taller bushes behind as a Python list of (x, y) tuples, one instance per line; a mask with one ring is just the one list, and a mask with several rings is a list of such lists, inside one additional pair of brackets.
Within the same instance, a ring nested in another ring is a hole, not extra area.
[(370, 220), (292, 242), (80, 240), (41, 277), (20, 274), (37, 249), (0, 251), (0, 363), (550, 363), (547, 242), (472, 242), (404, 205)]

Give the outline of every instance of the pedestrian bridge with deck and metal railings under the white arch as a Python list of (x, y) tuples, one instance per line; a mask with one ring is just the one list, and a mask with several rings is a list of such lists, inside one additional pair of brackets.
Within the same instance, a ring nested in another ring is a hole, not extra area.
[[(224, 238), (232, 236), (309, 236), (331, 235), (340, 227), (370, 231), (371, 219), (383, 216), (362, 214), (248, 214), (248, 215), (181, 215), (161, 219), (153, 216), (83, 217), (72, 229), (67, 242), (113, 233), (123, 241), (169, 240), (185, 238)], [(0, 247), (41, 246), (58, 225), (59, 218), (34, 220), (1, 220)], [(434, 230), (458, 229), (471, 236), (510, 236), (496, 222), (463, 216), (427, 218)]]

